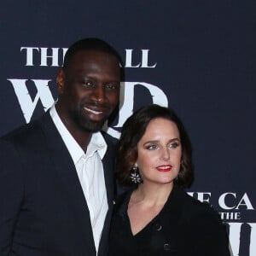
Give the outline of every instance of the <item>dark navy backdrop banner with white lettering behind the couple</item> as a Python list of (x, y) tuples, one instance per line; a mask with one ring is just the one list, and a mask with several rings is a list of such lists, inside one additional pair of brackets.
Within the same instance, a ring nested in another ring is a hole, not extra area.
[(255, 1), (3, 1), (0, 135), (55, 102), (70, 44), (102, 38), (125, 66), (119, 115), (105, 129), (118, 138), (137, 108), (174, 108), (193, 143), (189, 195), (219, 212), (235, 256), (255, 256), (255, 14)]

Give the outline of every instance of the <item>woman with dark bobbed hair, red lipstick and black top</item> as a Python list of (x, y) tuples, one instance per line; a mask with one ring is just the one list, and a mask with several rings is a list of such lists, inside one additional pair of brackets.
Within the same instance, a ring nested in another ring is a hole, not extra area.
[(123, 125), (117, 153), (119, 183), (109, 256), (228, 256), (218, 213), (187, 195), (192, 181), (189, 137), (177, 115), (151, 105)]

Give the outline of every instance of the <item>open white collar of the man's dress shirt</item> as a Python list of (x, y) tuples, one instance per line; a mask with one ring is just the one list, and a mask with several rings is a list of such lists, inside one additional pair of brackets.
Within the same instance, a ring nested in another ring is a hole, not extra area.
[(100, 131), (94, 132), (90, 138), (90, 143), (87, 147), (87, 152), (84, 154), (83, 148), (79, 146), (79, 143), (73, 138), (71, 133), (67, 130), (66, 126), (62, 123), (61, 118), (59, 117), (55, 105), (53, 105), (49, 109), (49, 114), (53, 119), (53, 122), (61, 134), (63, 142), (65, 143), (69, 154), (71, 155), (74, 164), (76, 164), (81, 157), (90, 157), (96, 151), (100, 155), (101, 159), (103, 159), (106, 151), (107, 151), (107, 143), (102, 137), (102, 133)]

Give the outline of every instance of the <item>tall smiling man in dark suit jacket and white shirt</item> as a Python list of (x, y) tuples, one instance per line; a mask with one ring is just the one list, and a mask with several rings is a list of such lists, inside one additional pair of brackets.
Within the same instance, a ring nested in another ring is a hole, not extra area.
[(0, 255), (105, 255), (113, 147), (100, 130), (119, 102), (120, 59), (97, 38), (73, 44), (58, 100), (0, 140)]

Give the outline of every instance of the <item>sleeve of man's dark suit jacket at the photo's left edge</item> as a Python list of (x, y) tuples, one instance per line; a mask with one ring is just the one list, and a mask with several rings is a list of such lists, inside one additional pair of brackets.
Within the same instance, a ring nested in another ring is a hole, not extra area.
[(12, 144), (0, 140), (0, 255), (8, 255), (23, 199), (22, 164)]

